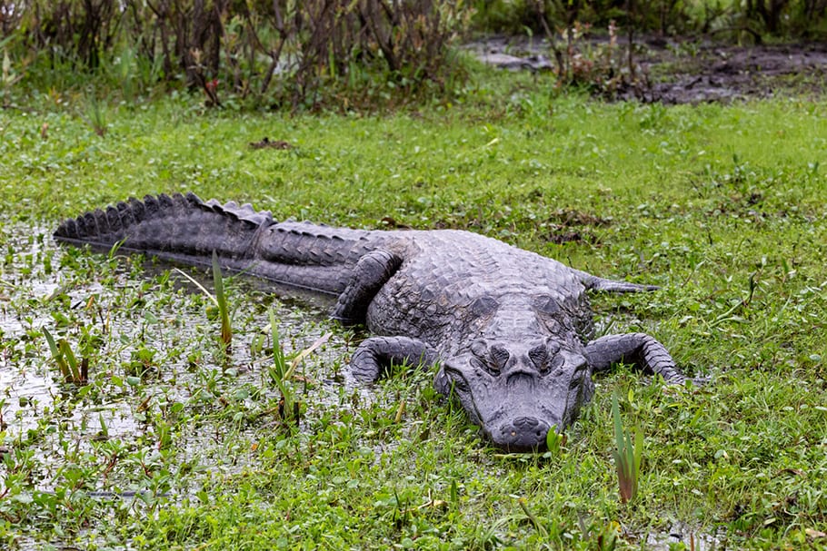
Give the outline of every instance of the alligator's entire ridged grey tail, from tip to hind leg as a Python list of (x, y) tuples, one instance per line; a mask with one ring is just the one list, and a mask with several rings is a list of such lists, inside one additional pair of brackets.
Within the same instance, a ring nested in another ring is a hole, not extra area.
[(302, 290), (338, 296), (357, 262), (377, 247), (370, 231), (276, 223), (249, 204), (194, 193), (147, 195), (64, 221), (55, 240), (109, 251), (140, 252), (179, 264), (209, 267), (213, 251), (222, 268)]

